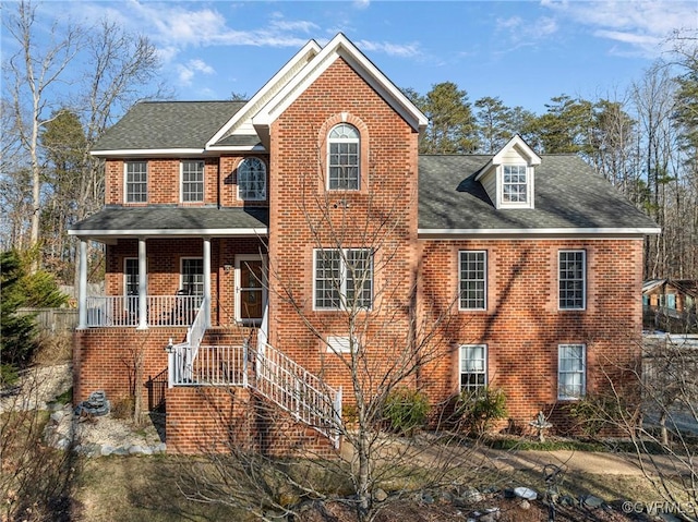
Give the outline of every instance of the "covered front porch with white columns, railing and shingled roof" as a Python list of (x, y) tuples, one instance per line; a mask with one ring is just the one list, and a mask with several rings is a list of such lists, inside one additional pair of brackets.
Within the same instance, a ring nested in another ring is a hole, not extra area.
[[(81, 221), (79, 329), (258, 325), (265, 208), (115, 207)], [(106, 245), (105, 295), (88, 295), (88, 242)]]

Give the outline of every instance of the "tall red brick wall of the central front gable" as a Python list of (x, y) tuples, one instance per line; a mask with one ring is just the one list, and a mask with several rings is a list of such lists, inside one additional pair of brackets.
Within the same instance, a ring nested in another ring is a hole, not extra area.
[[(325, 190), (325, 139), (340, 121), (361, 133), (360, 191)], [(362, 337), (371, 352), (364, 377), (380, 375), (410, 335), (406, 305), (414, 278), (417, 148), (418, 134), (341, 59), (273, 124), (270, 343), (333, 386), (342, 385), (349, 401), (346, 366), (317, 339), (347, 335), (347, 314), (313, 311), (313, 248), (375, 250), (376, 300), (358, 320), (366, 327)]]

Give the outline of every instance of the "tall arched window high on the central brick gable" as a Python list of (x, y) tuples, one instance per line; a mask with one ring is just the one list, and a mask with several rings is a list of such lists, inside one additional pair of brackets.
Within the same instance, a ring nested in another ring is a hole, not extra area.
[(340, 123), (327, 136), (327, 187), (358, 191), (360, 186), (361, 139), (356, 126)]

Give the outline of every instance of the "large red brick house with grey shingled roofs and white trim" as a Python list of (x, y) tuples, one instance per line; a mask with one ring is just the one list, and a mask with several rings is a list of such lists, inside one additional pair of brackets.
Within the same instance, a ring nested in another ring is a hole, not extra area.
[[(104, 209), (70, 231), (76, 400), (147, 387), (154, 408), (167, 380), (168, 451), (231, 433), (284, 450), (337, 442), (359, 351), (380, 392), (429, 345), (407, 385), (432, 404), (500, 387), (515, 425), (621, 378), (655, 224), (579, 158), (518, 136), (420, 157), (426, 124), (341, 34), (246, 102), (134, 106), (93, 150)], [(106, 245), (106, 295), (86, 294), (89, 241)], [(278, 415), (258, 422), (254, 401)]]

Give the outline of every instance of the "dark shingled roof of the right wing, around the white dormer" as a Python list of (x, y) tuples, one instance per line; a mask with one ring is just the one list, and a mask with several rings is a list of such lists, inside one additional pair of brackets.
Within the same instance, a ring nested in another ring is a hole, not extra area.
[(476, 178), (491, 155), (420, 156), (419, 234), (659, 233), (650, 218), (574, 155), (535, 167), (535, 208), (497, 210)]

